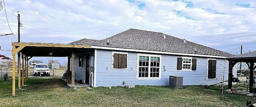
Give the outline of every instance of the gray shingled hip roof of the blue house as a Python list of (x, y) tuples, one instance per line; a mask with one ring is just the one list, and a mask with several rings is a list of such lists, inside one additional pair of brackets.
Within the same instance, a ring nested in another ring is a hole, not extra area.
[[(166, 36), (166, 38), (163, 37)], [(233, 56), (232, 54), (212, 49), (203, 45), (186, 41), (183, 39), (166, 35), (164, 33), (144, 31), (138, 29), (128, 29), (112, 37), (103, 40), (82, 39), (69, 44), (93, 45), (101, 47), (114, 47), (124, 49), (138, 49), (148, 51), (161, 51), (171, 53), (204, 54), (214, 56)], [(195, 51), (195, 49), (197, 51)]]

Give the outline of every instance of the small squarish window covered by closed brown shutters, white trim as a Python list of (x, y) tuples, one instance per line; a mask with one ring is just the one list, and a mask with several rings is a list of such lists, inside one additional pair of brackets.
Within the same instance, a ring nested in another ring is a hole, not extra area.
[(112, 68), (127, 68), (127, 53), (112, 52), (113, 66)]

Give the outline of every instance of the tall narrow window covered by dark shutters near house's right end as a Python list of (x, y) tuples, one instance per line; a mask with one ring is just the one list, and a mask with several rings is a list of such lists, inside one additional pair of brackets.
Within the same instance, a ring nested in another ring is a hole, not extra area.
[(216, 59), (208, 59), (207, 79), (216, 78)]

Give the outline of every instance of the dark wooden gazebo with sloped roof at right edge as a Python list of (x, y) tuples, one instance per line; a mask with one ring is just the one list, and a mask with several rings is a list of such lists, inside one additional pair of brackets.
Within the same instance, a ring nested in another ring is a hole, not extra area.
[(252, 86), (253, 86), (253, 76), (254, 76), (254, 69), (256, 69), (256, 66), (254, 66), (254, 63), (256, 63), (256, 51), (252, 51), (249, 53), (244, 53), (240, 55), (236, 55), (230, 58), (226, 58), (226, 60), (229, 61), (229, 67), (228, 67), (228, 89), (232, 88), (232, 69), (236, 65), (237, 62), (245, 62), (249, 69), (250, 69), (250, 80), (249, 80), (249, 89), (250, 93), (252, 92)]

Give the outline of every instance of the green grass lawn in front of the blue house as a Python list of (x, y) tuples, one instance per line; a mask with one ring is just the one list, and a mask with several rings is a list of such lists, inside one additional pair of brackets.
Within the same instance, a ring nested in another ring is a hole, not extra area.
[(0, 80), (0, 107), (246, 107), (247, 100), (256, 103), (255, 96), (224, 92), (222, 97), (219, 86), (210, 89), (204, 86), (183, 86), (183, 89), (119, 86), (76, 90), (60, 78), (28, 78), (26, 85), (21, 90), (16, 89), (13, 97), (12, 80)]

